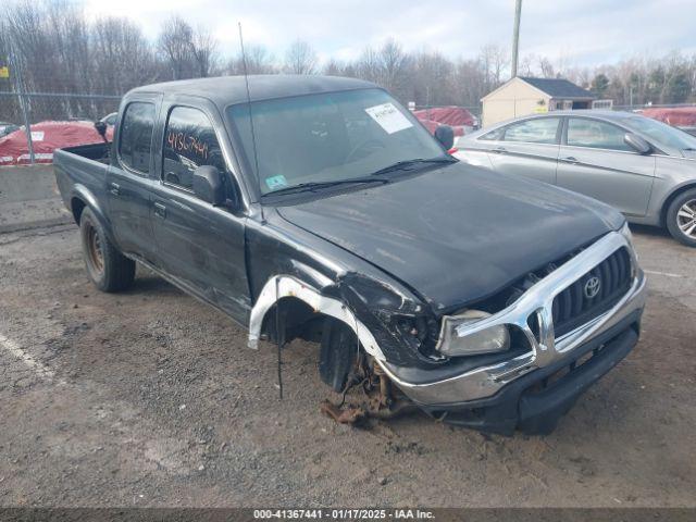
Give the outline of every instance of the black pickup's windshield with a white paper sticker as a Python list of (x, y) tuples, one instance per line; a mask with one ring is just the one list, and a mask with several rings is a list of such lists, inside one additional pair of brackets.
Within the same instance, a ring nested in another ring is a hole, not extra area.
[(326, 92), (227, 109), (261, 194), (360, 178), (399, 161), (447, 158), (418, 121), (381, 89)]

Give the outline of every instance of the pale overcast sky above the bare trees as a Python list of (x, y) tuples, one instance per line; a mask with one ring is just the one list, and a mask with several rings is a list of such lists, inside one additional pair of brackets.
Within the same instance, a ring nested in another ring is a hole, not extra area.
[[(514, 0), (86, 0), (90, 16), (123, 15), (154, 38), (172, 13), (207, 27), (231, 55), (237, 23), (246, 44), (282, 58), (297, 38), (320, 58), (351, 59), (396, 38), (407, 50), (474, 57), (486, 44), (510, 46)], [(520, 54), (567, 66), (612, 63), (671, 50), (696, 52), (695, 0), (524, 0)]]

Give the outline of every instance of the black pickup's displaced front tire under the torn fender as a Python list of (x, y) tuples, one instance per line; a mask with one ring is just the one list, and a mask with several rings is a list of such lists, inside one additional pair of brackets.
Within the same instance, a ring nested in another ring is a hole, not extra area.
[(343, 321), (326, 318), (322, 330), (319, 374), (336, 391), (343, 391), (356, 364), (358, 337)]

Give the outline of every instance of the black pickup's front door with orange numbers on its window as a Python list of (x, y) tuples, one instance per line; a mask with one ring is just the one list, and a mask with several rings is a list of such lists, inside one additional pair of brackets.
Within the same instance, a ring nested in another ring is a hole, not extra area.
[[(236, 184), (221, 141), (224, 126), (204, 100), (165, 103), (159, 179), (152, 194), (152, 226), (164, 271), (245, 324), (250, 310), (245, 259), (246, 217), (215, 208), (192, 191), (194, 171), (214, 165)], [(220, 129), (220, 133), (216, 133)], [(231, 192), (232, 195), (232, 192)]]

